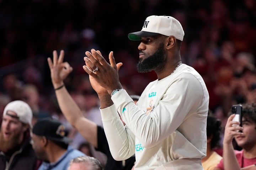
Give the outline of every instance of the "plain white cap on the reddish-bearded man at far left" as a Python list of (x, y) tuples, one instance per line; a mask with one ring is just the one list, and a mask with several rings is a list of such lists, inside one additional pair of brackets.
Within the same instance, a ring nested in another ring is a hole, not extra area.
[(17, 114), (17, 118), (22, 123), (29, 124), (30, 127), (32, 127), (31, 122), (33, 114), (30, 106), (27, 103), (21, 100), (12, 101), (5, 106), (3, 115), (6, 115), (7, 111), (15, 112)]

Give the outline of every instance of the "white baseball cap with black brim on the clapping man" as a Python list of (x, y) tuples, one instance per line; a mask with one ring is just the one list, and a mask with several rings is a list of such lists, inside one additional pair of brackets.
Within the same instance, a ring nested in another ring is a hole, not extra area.
[(141, 40), (142, 36), (154, 35), (175, 36), (178, 40), (183, 40), (184, 31), (181, 23), (171, 16), (152, 15), (145, 19), (142, 30), (128, 34), (130, 40)]

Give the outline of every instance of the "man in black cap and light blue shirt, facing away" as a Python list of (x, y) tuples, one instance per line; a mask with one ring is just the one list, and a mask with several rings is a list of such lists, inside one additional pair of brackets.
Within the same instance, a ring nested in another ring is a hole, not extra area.
[(43, 161), (38, 170), (66, 170), (71, 159), (85, 155), (69, 146), (72, 140), (65, 137), (65, 128), (57, 119), (38, 120), (32, 132), (32, 147)]

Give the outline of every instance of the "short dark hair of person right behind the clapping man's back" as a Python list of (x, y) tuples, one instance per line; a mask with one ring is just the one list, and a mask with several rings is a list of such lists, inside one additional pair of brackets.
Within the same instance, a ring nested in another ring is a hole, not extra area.
[(212, 137), (211, 149), (218, 146), (221, 130), (221, 121), (208, 111), (206, 134), (207, 138)]

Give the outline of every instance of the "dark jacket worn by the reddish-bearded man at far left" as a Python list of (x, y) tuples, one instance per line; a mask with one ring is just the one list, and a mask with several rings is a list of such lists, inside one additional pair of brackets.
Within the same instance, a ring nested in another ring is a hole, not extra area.
[(30, 140), (30, 136), (26, 137), (22, 146), (9, 156), (0, 151), (0, 170), (37, 170), (41, 162), (37, 160)]

